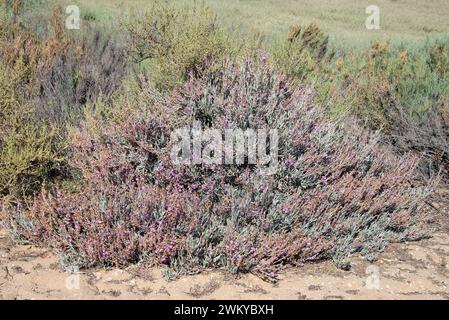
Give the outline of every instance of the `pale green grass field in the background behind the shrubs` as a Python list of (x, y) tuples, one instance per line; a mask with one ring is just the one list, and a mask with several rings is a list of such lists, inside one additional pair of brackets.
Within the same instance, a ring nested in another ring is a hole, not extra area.
[[(143, 12), (152, 0), (76, 0), (82, 14), (116, 22)], [(174, 0), (180, 6), (193, 0)], [(316, 22), (337, 46), (364, 46), (373, 39), (415, 40), (449, 32), (447, 0), (206, 0), (231, 29), (260, 32), (268, 40), (284, 37), (294, 24)], [(365, 9), (380, 8), (380, 30), (367, 30)]]

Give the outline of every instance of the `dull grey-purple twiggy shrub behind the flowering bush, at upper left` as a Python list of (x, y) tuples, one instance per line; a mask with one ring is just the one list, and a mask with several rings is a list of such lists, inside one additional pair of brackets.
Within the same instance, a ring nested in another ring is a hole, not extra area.
[(124, 45), (95, 30), (79, 43), (55, 53), (36, 77), (37, 115), (57, 123), (77, 124), (86, 104), (108, 102), (128, 74)]

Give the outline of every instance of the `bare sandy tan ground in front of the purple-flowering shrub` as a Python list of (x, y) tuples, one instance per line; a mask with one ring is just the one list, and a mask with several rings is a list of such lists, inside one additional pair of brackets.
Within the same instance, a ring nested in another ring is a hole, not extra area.
[(0, 299), (449, 299), (449, 235), (391, 245), (350, 271), (331, 262), (289, 269), (277, 284), (224, 271), (167, 281), (133, 266), (64, 273), (47, 250), (12, 243), (0, 231)]

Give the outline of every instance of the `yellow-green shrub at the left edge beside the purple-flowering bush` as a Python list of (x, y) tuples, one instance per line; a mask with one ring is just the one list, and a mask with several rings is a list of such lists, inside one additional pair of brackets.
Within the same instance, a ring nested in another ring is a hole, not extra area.
[(64, 162), (58, 131), (37, 121), (24, 99), (26, 74), (23, 64), (12, 70), (0, 64), (0, 196), (39, 190)]

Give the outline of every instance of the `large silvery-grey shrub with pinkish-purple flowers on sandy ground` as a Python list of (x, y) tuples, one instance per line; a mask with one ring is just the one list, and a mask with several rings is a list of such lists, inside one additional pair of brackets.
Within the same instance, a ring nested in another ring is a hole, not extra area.
[[(313, 98), (264, 61), (225, 64), (169, 96), (144, 82), (114, 115), (91, 113), (72, 132), (80, 190), (4, 208), (9, 226), (66, 265), (145, 261), (168, 275), (225, 267), (267, 280), (320, 259), (346, 268), (353, 252), (373, 260), (391, 241), (425, 236), (428, 186), (410, 183), (418, 159), (395, 156), (350, 119), (322, 119)], [(277, 171), (173, 164), (170, 133), (195, 121), (277, 129)]]

